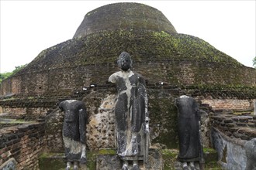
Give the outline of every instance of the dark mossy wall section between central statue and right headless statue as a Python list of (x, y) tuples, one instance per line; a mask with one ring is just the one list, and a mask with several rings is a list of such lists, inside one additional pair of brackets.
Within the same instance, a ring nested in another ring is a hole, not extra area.
[(159, 135), (152, 143), (161, 143), (168, 148), (178, 147), (177, 108), (170, 93), (148, 90), (150, 126)]

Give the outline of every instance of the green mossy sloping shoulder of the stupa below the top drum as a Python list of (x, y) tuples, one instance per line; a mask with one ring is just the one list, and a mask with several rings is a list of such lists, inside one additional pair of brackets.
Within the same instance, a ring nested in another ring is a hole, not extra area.
[[(95, 46), (102, 46), (104, 48), (97, 49), (94, 48)], [(153, 54), (155, 59), (162, 57), (171, 57), (171, 59), (199, 59), (240, 66), (240, 63), (232, 57), (221, 53), (213, 46), (209, 45), (209, 43), (194, 36), (176, 33), (168, 34), (164, 31), (137, 32), (122, 29), (118, 31), (97, 32), (90, 34), (85, 38), (71, 39), (67, 42), (62, 42), (57, 46), (45, 49), (32, 63), (39, 62), (41, 59), (48, 59), (47, 56), (51, 56), (51, 53), (53, 52), (55, 55), (58, 54), (59, 56), (62, 56), (61, 54), (65, 53), (66, 56), (74, 57), (75, 54), (76, 59), (73, 60), (73, 64), (75, 65), (112, 63), (123, 50), (127, 50), (130, 53), (136, 53), (136, 59), (140, 58), (141, 51), (143, 52), (144, 50), (147, 50), (147, 53)], [(116, 55), (112, 56), (111, 54), (113, 53)], [(106, 57), (104, 54), (110, 54), (110, 56), (108, 55)], [(97, 59), (99, 56), (102, 57)], [(66, 62), (62, 63), (61, 60), (58, 59), (59, 66), (67, 64)], [(51, 63), (56, 63), (54, 58), (52, 62), (47, 62), (47, 65)], [(32, 66), (32, 64), (29, 64), (29, 66)]]

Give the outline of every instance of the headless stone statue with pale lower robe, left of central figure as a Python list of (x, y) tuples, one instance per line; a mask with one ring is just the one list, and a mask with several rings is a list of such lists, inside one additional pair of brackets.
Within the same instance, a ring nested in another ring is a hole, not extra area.
[(59, 104), (64, 111), (64, 123), (62, 136), (67, 158), (67, 170), (78, 169), (78, 162), (85, 163), (85, 131), (86, 131), (86, 108), (85, 104), (79, 100), (64, 100)]

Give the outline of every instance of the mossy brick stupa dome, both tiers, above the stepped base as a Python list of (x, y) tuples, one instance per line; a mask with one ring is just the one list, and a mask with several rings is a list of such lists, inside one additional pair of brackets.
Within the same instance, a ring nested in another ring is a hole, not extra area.
[(156, 8), (116, 3), (88, 12), (73, 39), (44, 49), (3, 81), (1, 96), (67, 97), (91, 83), (104, 85), (123, 51), (149, 83), (255, 86), (254, 69), (202, 39), (178, 34)]

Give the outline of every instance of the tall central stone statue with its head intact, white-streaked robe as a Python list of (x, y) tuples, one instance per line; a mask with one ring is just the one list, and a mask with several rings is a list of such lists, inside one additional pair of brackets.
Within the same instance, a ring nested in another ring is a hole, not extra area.
[(115, 107), (117, 154), (123, 160), (122, 169), (128, 169), (128, 162), (132, 161), (135, 170), (139, 169), (139, 160), (147, 162), (149, 148), (145, 80), (131, 70), (129, 53), (121, 53), (117, 63), (121, 71), (109, 76), (109, 82), (116, 83), (118, 91)]

